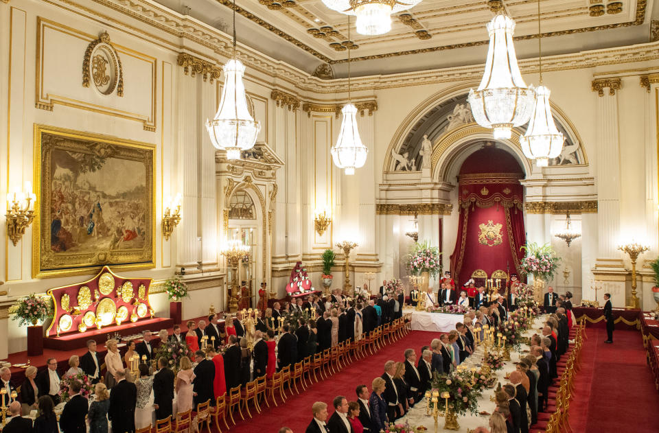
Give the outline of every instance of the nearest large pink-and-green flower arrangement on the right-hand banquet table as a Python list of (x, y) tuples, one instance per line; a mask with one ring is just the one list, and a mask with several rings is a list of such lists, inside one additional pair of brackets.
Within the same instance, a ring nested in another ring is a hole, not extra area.
[(439, 395), (448, 392), (448, 408), (456, 415), (466, 415), (471, 412), (472, 415), (478, 414), (478, 397), (481, 397), (481, 390), (475, 386), (476, 376), (467, 368), (458, 366), (456, 370), (448, 375), (435, 375), (432, 379), (432, 390), (439, 391)]

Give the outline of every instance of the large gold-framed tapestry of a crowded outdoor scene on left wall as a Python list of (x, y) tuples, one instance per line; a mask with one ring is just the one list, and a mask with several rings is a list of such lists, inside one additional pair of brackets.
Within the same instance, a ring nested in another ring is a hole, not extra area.
[(154, 266), (154, 146), (35, 126), (34, 277)]

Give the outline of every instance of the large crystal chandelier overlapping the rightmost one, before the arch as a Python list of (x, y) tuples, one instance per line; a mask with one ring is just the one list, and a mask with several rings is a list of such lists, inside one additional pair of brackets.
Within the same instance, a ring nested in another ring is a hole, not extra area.
[(509, 139), (513, 126), (527, 123), (535, 102), (533, 86), (527, 87), (517, 65), (514, 30), (515, 21), (502, 12), (487, 24), (485, 73), (478, 90), (469, 91), (474, 119), (485, 128), (493, 128), (496, 139)]

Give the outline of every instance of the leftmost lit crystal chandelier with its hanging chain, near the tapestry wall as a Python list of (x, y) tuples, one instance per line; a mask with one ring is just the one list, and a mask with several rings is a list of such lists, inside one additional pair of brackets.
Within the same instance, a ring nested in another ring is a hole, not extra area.
[(240, 151), (251, 149), (261, 130), (247, 108), (242, 74), (245, 67), (235, 58), (235, 0), (233, 0), (233, 57), (224, 65), (224, 87), (218, 112), (206, 129), (216, 149), (226, 150), (227, 159), (240, 159)]

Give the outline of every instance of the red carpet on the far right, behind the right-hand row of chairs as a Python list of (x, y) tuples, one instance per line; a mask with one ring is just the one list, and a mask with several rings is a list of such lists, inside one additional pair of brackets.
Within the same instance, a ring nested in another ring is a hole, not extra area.
[(659, 393), (645, 362), (640, 332), (586, 328), (581, 371), (575, 377), (570, 425), (575, 433), (657, 433)]

